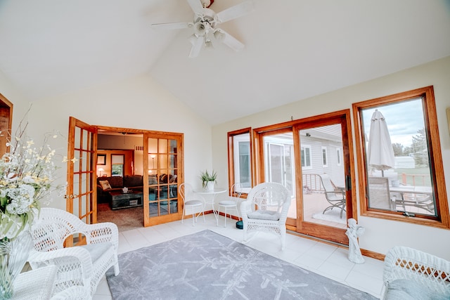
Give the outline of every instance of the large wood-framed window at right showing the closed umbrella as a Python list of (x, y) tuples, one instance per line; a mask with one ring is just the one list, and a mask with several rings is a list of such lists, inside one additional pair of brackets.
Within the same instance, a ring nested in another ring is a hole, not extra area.
[(353, 112), (361, 214), (449, 228), (432, 86), (354, 103)]

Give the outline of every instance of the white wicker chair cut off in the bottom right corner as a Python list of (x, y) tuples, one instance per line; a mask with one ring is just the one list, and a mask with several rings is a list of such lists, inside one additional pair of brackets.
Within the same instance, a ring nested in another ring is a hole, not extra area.
[[(400, 280), (397, 285), (396, 280)], [(399, 282), (409, 285), (398, 287)], [(393, 247), (385, 257), (383, 283), (383, 299), (398, 299), (399, 294), (392, 294), (396, 292), (392, 291), (393, 287), (400, 294), (417, 292), (424, 296), (429, 293), (432, 299), (450, 299), (450, 262), (409, 247)], [(416, 296), (411, 298), (418, 299)]]

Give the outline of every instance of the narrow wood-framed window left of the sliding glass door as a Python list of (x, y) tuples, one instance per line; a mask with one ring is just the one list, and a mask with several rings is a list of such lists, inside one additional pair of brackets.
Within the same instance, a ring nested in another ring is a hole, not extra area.
[(252, 188), (250, 131), (249, 128), (228, 133), (229, 186), (240, 183), (236, 187), (236, 192), (240, 193), (248, 193)]

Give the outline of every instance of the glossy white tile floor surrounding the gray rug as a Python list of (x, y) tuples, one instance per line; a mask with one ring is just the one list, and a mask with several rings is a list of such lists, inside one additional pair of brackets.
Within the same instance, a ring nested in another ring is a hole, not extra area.
[[(187, 219), (184, 223), (174, 221), (119, 233), (119, 253), (158, 244), (205, 229), (242, 242), (243, 233), (242, 230), (236, 229), (236, 221), (228, 219), (226, 227), (224, 227), (224, 216), (220, 217), (219, 226), (216, 226), (213, 214), (207, 214), (205, 219), (204, 223), (200, 217), (195, 226), (192, 226), (192, 219)], [(247, 245), (314, 273), (368, 292), (377, 298), (380, 298), (382, 294), (383, 261), (364, 257), (365, 263), (355, 264), (347, 259), (347, 249), (290, 234), (286, 236), (286, 247), (283, 252), (280, 249), (278, 237), (269, 233), (257, 233), (257, 236), (254, 235), (248, 240)], [(98, 285), (94, 300), (107, 299), (111, 299), (111, 294), (108, 282), (103, 278)]]

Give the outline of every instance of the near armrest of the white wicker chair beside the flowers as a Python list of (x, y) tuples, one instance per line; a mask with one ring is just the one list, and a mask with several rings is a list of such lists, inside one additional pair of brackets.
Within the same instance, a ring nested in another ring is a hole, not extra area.
[(68, 268), (74, 268), (74, 261), (77, 261), (77, 265), (81, 268), (83, 280), (84, 278), (91, 278), (93, 274), (91, 255), (82, 247), (68, 247), (49, 252), (37, 252), (33, 249), (28, 257), (28, 262), (32, 268), (53, 264), (56, 264), (59, 269), (65, 268), (65, 265), (68, 265)]

